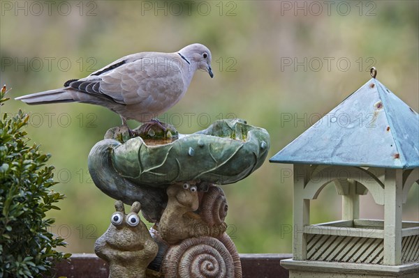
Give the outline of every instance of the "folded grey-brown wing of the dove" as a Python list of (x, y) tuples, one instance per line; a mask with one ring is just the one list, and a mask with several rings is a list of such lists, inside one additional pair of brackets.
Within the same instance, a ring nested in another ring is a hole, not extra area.
[(161, 56), (132, 58), (131, 61), (119, 59), (89, 77), (71, 82), (69, 86), (122, 105), (145, 102), (154, 106), (171, 95), (184, 93), (179, 63), (170, 63)]

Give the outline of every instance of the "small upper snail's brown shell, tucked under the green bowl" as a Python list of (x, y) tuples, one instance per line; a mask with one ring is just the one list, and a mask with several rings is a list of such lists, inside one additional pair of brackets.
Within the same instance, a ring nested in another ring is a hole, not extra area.
[(205, 192), (200, 205), (200, 216), (210, 226), (221, 224), (226, 219), (228, 204), (220, 187), (212, 186)]

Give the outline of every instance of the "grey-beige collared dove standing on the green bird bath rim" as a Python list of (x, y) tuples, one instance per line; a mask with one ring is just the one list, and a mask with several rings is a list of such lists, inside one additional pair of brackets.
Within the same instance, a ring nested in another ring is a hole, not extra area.
[(140, 52), (124, 56), (82, 79), (68, 80), (63, 88), (24, 95), (29, 105), (83, 102), (101, 105), (121, 116), (150, 121), (175, 105), (186, 93), (196, 70), (211, 70), (211, 52), (195, 43), (178, 52)]

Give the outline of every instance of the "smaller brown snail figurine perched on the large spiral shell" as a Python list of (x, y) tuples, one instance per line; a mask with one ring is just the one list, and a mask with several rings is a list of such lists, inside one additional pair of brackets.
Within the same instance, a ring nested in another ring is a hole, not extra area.
[[(217, 195), (217, 192), (220, 194), (219, 190), (215, 190), (216, 194), (214, 195)], [(159, 235), (169, 244), (175, 244), (180, 240), (201, 235), (217, 238), (226, 231), (227, 225), (223, 221), (227, 213), (225, 198), (224, 202), (214, 203), (212, 201), (216, 200), (216, 197), (203, 197), (202, 200), (204, 201), (201, 200), (201, 203), (206, 206), (202, 209), (204, 215), (202, 217), (198, 213), (193, 213), (200, 208), (198, 187), (193, 185), (193, 183), (175, 183), (170, 185), (167, 194), (168, 205), (161, 215)], [(205, 201), (205, 199), (208, 201)], [(217, 208), (213, 209), (211, 207), (213, 205)], [(213, 216), (213, 210), (216, 216)], [(220, 211), (221, 213), (219, 213)]]

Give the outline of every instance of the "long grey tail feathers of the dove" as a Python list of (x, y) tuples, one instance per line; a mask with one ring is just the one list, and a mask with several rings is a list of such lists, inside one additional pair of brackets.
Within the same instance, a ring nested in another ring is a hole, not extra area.
[(59, 102), (74, 102), (71, 93), (65, 88), (59, 88), (40, 93), (32, 93), (30, 95), (23, 95), (22, 97), (15, 98), (15, 100), (22, 100), (28, 105), (43, 105), (47, 103)]

